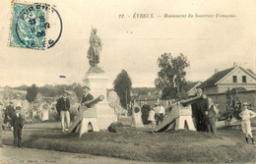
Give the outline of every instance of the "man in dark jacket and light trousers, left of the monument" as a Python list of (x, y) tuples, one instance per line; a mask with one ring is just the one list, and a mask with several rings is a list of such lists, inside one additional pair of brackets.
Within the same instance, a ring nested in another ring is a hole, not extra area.
[(63, 96), (58, 99), (56, 104), (56, 109), (61, 118), (62, 132), (65, 132), (65, 121), (67, 124), (67, 128), (69, 128), (69, 124), (70, 124), (70, 113), (69, 113), (70, 102), (67, 96), (68, 96), (68, 93), (64, 91)]

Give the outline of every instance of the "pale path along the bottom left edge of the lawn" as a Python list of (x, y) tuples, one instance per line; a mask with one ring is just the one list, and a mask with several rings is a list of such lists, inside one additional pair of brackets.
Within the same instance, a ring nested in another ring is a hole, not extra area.
[(33, 148), (0, 147), (0, 164), (142, 164), (145, 162), (130, 161), (118, 158), (93, 156), (81, 153), (68, 153)]

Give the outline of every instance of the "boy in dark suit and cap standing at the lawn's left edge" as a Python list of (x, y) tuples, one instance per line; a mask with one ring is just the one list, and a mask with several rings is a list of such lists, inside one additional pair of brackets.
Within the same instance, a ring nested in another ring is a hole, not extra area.
[[(21, 107), (18, 106), (15, 111), (15, 115), (12, 119), (12, 125), (14, 128), (14, 146), (22, 147), (22, 130), (24, 127), (24, 119), (21, 114)], [(18, 139), (18, 142), (17, 142)]]

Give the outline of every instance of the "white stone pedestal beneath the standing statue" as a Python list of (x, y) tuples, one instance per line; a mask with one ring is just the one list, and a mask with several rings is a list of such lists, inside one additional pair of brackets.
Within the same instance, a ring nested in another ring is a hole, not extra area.
[(104, 96), (104, 100), (96, 104), (96, 118), (99, 129), (106, 130), (111, 123), (117, 121), (114, 109), (110, 108), (106, 97), (108, 77), (104, 73), (88, 73), (84, 82), (91, 88), (90, 92), (94, 97), (100, 94)]

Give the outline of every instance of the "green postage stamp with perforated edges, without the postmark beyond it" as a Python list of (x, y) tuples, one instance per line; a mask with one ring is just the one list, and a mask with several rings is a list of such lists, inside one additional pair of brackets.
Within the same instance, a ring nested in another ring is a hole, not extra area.
[(47, 4), (13, 4), (10, 46), (43, 50), (49, 24)]

